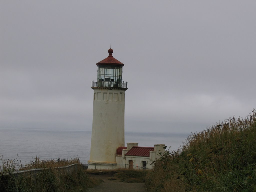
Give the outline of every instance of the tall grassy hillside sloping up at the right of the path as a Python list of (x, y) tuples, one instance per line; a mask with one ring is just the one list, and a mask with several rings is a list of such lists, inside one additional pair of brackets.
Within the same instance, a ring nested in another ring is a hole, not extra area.
[(161, 155), (147, 177), (149, 191), (256, 191), (256, 111), (211, 125)]

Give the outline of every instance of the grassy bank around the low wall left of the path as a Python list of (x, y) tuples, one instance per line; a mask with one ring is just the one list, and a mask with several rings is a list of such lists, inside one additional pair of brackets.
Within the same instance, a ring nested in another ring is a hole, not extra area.
[(0, 191), (85, 191), (88, 187), (94, 185), (89, 179), (86, 170), (82, 166), (68, 174), (61, 169), (54, 167), (67, 166), (74, 163), (81, 164), (79, 158), (43, 160), (35, 158), (30, 164), (26, 164), (20, 169), (42, 168), (43, 170), (33, 174), (26, 172), (15, 176), (17, 170), (16, 164), (12, 160), (2, 160), (0, 172)]

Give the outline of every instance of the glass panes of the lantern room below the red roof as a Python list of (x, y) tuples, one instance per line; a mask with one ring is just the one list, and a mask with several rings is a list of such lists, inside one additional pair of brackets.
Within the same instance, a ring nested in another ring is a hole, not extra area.
[(122, 67), (120, 66), (98, 66), (98, 81), (122, 81)]

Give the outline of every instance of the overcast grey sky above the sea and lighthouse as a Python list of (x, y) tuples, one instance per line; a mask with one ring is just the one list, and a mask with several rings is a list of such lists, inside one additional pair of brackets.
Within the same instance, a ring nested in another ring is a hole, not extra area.
[(125, 131), (256, 108), (256, 1), (0, 0), (0, 128), (91, 130), (96, 63), (124, 63)]

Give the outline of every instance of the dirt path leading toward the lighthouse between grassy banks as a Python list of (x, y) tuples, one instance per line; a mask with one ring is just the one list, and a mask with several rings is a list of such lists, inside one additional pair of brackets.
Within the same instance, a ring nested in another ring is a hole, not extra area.
[(144, 183), (123, 183), (118, 180), (109, 180), (111, 177), (110, 175), (90, 175), (90, 178), (99, 179), (102, 182), (86, 192), (145, 192)]

